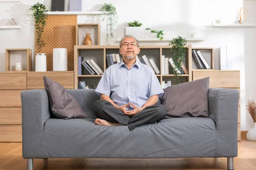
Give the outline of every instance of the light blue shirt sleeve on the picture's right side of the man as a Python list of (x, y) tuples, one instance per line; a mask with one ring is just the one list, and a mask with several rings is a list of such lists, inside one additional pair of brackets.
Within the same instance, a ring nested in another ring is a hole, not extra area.
[(151, 97), (156, 94), (158, 94), (158, 97), (163, 96), (164, 91), (159, 80), (157, 79), (156, 74), (151, 68), (148, 69), (148, 73), (148, 97)]

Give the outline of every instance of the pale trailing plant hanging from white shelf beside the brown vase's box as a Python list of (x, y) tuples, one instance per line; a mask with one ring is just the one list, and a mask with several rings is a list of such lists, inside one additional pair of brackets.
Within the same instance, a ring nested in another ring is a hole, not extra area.
[(102, 21), (104, 21), (105, 17), (107, 17), (106, 42), (108, 45), (108, 37), (109, 36), (111, 38), (114, 37), (114, 26), (117, 22), (116, 7), (114, 7), (111, 3), (110, 4), (104, 3), (104, 5), (102, 6), (102, 8), (100, 8), (99, 11), (105, 11), (105, 15)]

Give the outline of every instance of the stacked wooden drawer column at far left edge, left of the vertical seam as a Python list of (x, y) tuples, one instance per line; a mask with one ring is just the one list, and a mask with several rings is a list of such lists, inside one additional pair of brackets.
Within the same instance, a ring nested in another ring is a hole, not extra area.
[(0, 142), (21, 142), (21, 91), (26, 71), (0, 73)]

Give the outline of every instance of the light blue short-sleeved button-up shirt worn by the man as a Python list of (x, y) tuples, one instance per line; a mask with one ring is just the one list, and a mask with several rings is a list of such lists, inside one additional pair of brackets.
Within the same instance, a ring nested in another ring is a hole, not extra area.
[(129, 70), (122, 60), (106, 69), (95, 93), (109, 96), (118, 106), (131, 102), (141, 108), (149, 97), (161, 97), (164, 91), (148, 65), (136, 61)]

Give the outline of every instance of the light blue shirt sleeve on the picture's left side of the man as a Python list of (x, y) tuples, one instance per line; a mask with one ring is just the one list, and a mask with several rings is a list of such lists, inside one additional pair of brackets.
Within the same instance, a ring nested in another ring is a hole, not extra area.
[(97, 85), (97, 88), (95, 90), (95, 93), (97, 95), (105, 94), (107, 96), (110, 95), (110, 72), (109, 69), (106, 69), (106, 71), (103, 73), (102, 78), (99, 80), (99, 84)]

